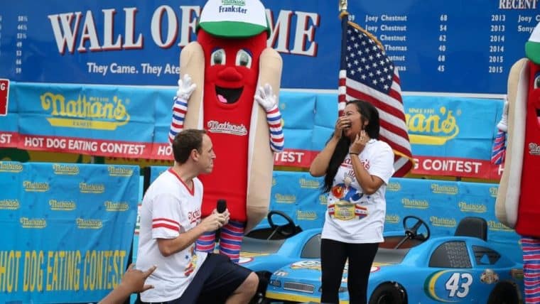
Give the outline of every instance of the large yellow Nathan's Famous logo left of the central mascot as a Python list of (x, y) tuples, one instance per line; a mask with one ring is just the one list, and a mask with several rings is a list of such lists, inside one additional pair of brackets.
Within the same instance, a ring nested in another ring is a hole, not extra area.
[[(115, 130), (129, 121), (122, 99), (79, 95), (77, 100), (65, 100), (62, 94), (46, 92), (40, 96), (41, 107), (50, 111), (51, 126), (78, 129)], [(127, 101), (126, 101), (127, 102)]]

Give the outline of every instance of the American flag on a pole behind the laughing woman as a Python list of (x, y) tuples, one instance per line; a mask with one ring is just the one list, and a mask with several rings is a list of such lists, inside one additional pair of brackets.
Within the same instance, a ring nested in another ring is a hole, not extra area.
[(347, 16), (342, 17), (342, 31), (339, 113), (351, 99), (365, 100), (379, 110), (379, 139), (394, 150), (394, 176), (402, 177), (413, 167), (413, 158), (398, 70), (379, 41)]

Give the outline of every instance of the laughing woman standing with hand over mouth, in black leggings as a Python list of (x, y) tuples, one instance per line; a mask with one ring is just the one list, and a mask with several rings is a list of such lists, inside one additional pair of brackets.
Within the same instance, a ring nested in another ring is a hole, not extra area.
[(379, 141), (379, 112), (362, 100), (347, 102), (335, 131), (315, 157), (309, 172), (323, 176), (328, 212), (321, 236), (321, 303), (339, 303), (343, 268), (348, 259), (350, 303), (367, 303), (373, 259), (384, 241), (384, 198), (394, 174), (394, 153)]

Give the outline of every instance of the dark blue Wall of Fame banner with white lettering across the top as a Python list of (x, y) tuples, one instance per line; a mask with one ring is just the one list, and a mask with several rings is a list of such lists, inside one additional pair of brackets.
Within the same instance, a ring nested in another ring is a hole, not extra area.
[[(336, 89), (338, 0), (263, 0), (282, 87)], [(349, 18), (382, 43), (409, 92), (506, 91), (540, 21), (538, 1), (348, 1)], [(239, 1), (242, 3), (242, 1)], [(0, 13), (0, 75), (21, 82), (171, 85), (195, 40), (204, 0), (11, 1)]]

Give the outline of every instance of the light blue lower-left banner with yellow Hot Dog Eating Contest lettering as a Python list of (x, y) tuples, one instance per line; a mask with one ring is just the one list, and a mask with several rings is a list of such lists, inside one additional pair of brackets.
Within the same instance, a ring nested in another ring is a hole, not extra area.
[(0, 302), (97, 302), (124, 274), (139, 167), (0, 162)]

